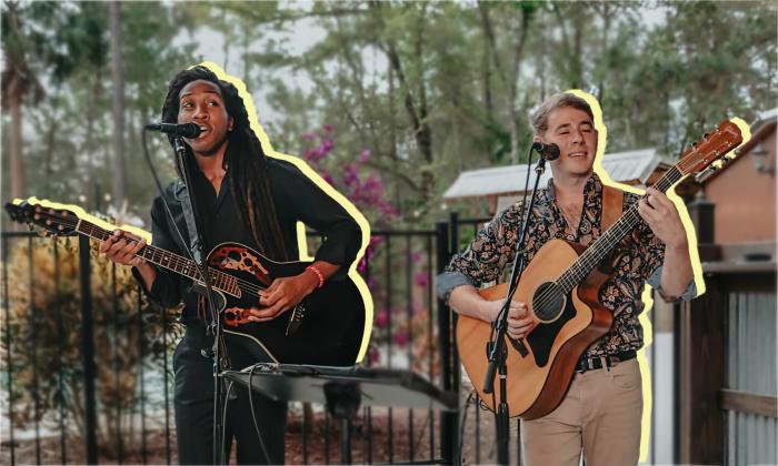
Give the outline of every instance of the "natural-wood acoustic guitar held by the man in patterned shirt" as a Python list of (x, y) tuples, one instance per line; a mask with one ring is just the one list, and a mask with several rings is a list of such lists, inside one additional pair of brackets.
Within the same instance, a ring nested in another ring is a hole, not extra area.
[[(686, 150), (654, 188), (667, 192), (687, 175), (701, 172), (717, 160), (726, 163), (731, 156), (725, 155), (741, 142), (738, 125), (722, 122)], [(598, 266), (640, 221), (636, 203), (588, 247), (551, 240), (540, 247), (521, 274), (513, 301), (527, 303), (538, 325), (520, 342), (506, 335), (510, 416), (536, 419), (553, 411), (569, 388), (580, 356), (610, 330), (614, 317), (598, 301), (600, 286), (608, 275)], [(499, 284), (479, 294), (488, 301), (503, 300), (508, 285)], [(491, 334), (490, 323), (459, 316), (459, 356), (478, 395), (493, 411), (491, 395), (483, 393), (488, 366), (486, 348)], [(495, 393), (499, 401), (497, 383)]]

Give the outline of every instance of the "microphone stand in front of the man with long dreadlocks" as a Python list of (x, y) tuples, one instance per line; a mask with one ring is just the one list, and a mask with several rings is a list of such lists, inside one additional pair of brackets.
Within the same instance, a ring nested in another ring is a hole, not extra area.
[(202, 251), (203, 243), (202, 234), (200, 233), (201, 216), (200, 212), (198, 211), (198, 203), (194, 202), (194, 197), (192, 196), (191, 186), (193, 181), (191, 179), (191, 172), (189, 171), (190, 168), (187, 164), (187, 151), (183, 145), (183, 141), (181, 141), (181, 138), (174, 138), (173, 145), (176, 148), (176, 155), (178, 158), (177, 162), (179, 164), (179, 168), (181, 169), (183, 184), (187, 190), (187, 193), (189, 194), (190, 204), (192, 206), (192, 214), (194, 216), (194, 231), (197, 233), (197, 237), (192, 237), (190, 239), (190, 241), (197, 241), (198, 247), (200, 250), (200, 262), (198, 263), (198, 261), (194, 261), (194, 263), (200, 267), (200, 276), (202, 276), (202, 282), (206, 288), (206, 297), (211, 311), (211, 322), (210, 324), (207, 324), (206, 334), (213, 335), (213, 348), (211, 351), (211, 357), (213, 358), (213, 464), (221, 465), (225, 464), (225, 445), (221, 442), (221, 434), (225, 426), (221, 425), (220, 415), (222, 396), (221, 379), (219, 377), (219, 374), (221, 374), (221, 371), (229, 368), (229, 363), (227, 361), (227, 352), (225, 348), (225, 337), (221, 328), (221, 318), (219, 318), (219, 311), (216, 308), (216, 301), (213, 300), (213, 288), (211, 287), (211, 277), (208, 271), (207, 259)]

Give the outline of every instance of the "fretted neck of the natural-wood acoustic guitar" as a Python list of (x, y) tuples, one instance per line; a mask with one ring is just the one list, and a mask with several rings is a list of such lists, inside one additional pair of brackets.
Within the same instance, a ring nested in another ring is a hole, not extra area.
[[(668, 170), (654, 185), (658, 191), (667, 192), (684, 178), (678, 165)], [(635, 203), (621, 217), (614, 223), (592, 245), (578, 256), (576, 262), (559, 277), (558, 284), (567, 292), (581, 283), (587, 275), (605, 260), (614, 249), (640, 223), (638, 204)]]

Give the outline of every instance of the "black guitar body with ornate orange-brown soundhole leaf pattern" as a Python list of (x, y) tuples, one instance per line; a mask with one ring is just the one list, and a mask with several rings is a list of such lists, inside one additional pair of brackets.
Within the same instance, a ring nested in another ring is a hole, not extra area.
[[(350, 278), (326, 282), (295, 311), (272, 321), (249, 322), (248, 310), (263, 307), (260, 288), (275, 278), (298, 275), (311, 263), (273, 262), (242, 244), (225, 243), (208, 254), (208, 264), (241, 281), (240, 296), (216, 292), (222, 301), (218, 307), (228, 350), (240, 347), (251, 362), (350, 366), (357, 361), (365, 333), (365, 303)], [(299, 325), (288, 332), (292, 317)]]

